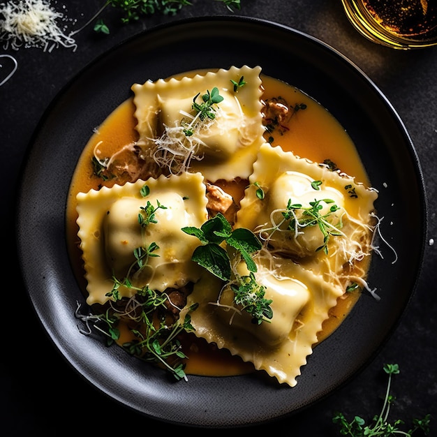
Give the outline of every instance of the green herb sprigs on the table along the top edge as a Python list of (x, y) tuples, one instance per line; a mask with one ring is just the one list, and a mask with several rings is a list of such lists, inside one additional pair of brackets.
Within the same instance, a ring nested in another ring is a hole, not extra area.
[[(241, 0), (214, 0), (223, 3), (231, 12), (241, 9)], [(107, 0), (96, 17), (100, 15), (107, 6), (113, 6), (122, 11), (121, 22), (128, 24), (140, 20), (142, 15), (153, 15), (161, 13), (163, 15), (176, 15), (184, 6), (191, 6), (189, 0)], [(93, 19), (94, 19), (93, 18)], [(94, 31), (109, 34), (110, 29), (103, 19), (97, 20)]]

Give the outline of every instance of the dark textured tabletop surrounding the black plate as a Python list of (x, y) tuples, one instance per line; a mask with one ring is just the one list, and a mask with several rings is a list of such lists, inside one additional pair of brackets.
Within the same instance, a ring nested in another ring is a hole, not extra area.
[[(4, 2), (0, 2), (4, 3)], [(102, 6), (103, 0), (53, 2), (78, 28)], [(89, 61), (122, 40), (156, 24), (186, 17), (232, 14), (223, 3), (193, 0), (175, 17), (153, 15), (121, 26), (117, 10), (102, 16), (111, 34), (94, 34), (92, 25), (75, 35), (77, 50), (59, 48), (51, 53), (38, 49), (4, 50), (18, 62), (15, 75), (0, 87), (0, 153), (3, 172), (1, 229), (6, 263), (2, 262), (1, 317), (3, 341), (0, 360), (0, 434), (3, 436), (62, 436), (195, 431), (146, 419), (114, 403), (82, 380), (54, 349), (34, 315), (17, 269), (13, 225), (21, 163), (40, 117), (61, 88)], [(64, 9), (64, 5), (66, 8)], [(332, 415), (341, 410), (348, 417), (370, 419), (378, 413), (385, 392), (384, 363), (401, 369), (393, 381), (397, 400), (393, 419), (410, 423), (413, 417), (434, 415), (431, 436), (437, 436), (437, 47), (403, 52), (373, 44), (357, 34), (343, 13), (341, 1), (242, 0), (238, 15), (286, 24), (315, 36), (351, 59), (383, 91), (397, 110), (413, 140), (422, 164), (429, 206), (429, 230), (424, 267), (415, 295), (399, 326), (373, 362), (348, 385), (302, 413), (275, 422), (291, 436), (336, 436)], [(0, 71), (1, 73), (1, 71)], [(0, 79), (1, 81), (1, 79)], [(405, 200), (405, 244), (408, 244), (408, 210)], [(29, 212), (29, 220), (31, 220)], [(6, 250), (5, 250), (6, 249)], [(259, 433), (272, 424), (257, 425)]]

